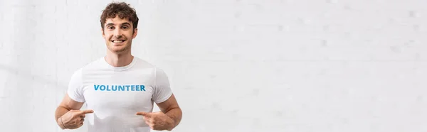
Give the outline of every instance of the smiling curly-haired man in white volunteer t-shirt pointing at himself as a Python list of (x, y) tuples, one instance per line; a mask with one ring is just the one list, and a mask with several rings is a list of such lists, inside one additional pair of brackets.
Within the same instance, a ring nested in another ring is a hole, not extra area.
[[(166, 73), (131, 54), (139, 20), (135, 9), (111, 3), (100, 18), (107, 54), (73, 73), (56, 109), (58, 126), (80, 128), (87, 120), (89, 132), (172, 131), (182, 112)], [(84, 103), (88, 109), (80, 111)], [(153, 103), (161, 111), (152, 112)]]

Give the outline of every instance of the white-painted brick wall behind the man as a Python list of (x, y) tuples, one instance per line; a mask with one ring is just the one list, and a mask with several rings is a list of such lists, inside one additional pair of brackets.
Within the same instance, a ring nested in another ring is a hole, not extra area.
[[(105, 54), (107, 2), (0, 1), (1, 131), (60, 131), (70, 75)], [(176, 132), (427, 131), (426, 1), (127, 2), (134, 55), (183, 109)]]

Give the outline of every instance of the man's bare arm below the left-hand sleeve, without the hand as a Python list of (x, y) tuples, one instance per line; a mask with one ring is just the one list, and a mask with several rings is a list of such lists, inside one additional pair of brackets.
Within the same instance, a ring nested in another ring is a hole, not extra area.
[(61, 103), (59, 104), (59, 106), (56, 108), (56, 111), (55, 111), (55, 119), (56, 119), (56, 123), (58, 123), (58, 126), (60, 126), (60, 128), (62, 129), (65, 129), (63, 128), (62, 121), (59, 119), (60, 116), (63, 116), (70, 110), (81, 109), (83, 104), (84, 102), (74, 101), (73, 99), (68, 97), (68, 94), (65, 94), (65, 97), (63, 98), (63, 100), (61, 101)]

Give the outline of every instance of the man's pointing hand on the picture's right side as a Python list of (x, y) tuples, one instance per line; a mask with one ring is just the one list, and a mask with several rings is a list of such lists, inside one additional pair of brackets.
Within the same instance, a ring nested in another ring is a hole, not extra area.
[(174, 121), (163, 112), (137, 112), (137, 115), (144, 116), (145, 123), (153, 130), (172, 130)]

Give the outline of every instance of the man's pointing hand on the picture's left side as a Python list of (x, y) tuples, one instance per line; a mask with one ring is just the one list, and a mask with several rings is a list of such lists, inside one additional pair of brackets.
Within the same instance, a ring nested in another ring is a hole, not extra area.
[(58, 123), (60, 126), (68, 129), (80, 128), (80, 126), (83, 126), (86, 114), (91, 113), (93, 113), (91, 109), (84, 111), (70, 110), (58, 119)]

